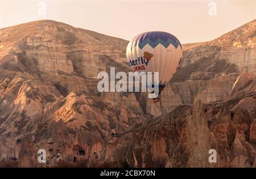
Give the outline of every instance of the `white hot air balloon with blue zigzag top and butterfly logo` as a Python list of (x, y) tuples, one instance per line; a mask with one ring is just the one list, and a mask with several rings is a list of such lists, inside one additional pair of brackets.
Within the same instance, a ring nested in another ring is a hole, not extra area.
[[(180, 41), (167, 32), (144, 32), (127, 45), (126, 57), (133, 71), (158, 72), (159, 95), (179, 67), (182, 57)], [(159, 97), (154, 101), (159, 101)]]

